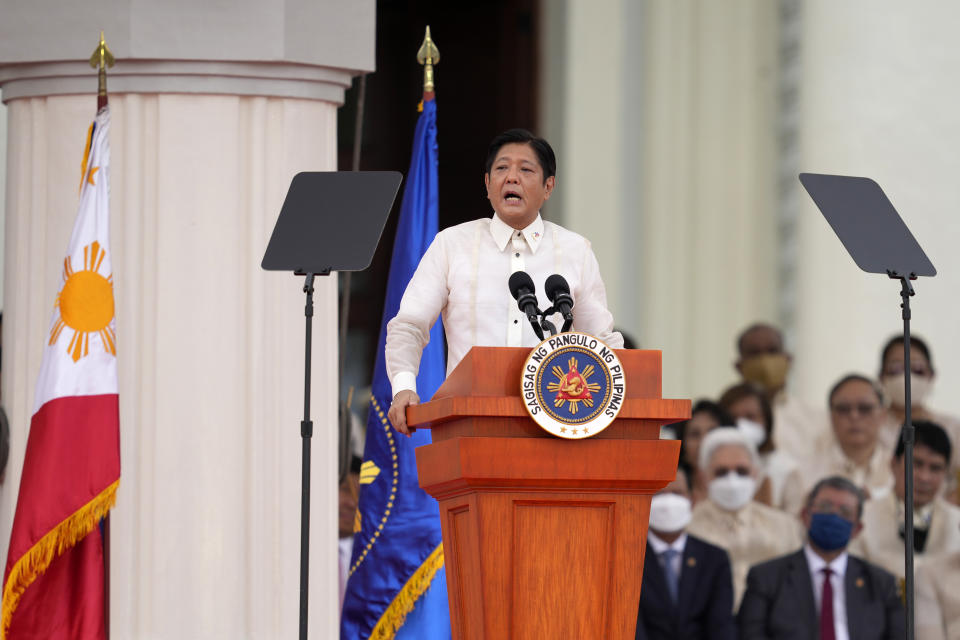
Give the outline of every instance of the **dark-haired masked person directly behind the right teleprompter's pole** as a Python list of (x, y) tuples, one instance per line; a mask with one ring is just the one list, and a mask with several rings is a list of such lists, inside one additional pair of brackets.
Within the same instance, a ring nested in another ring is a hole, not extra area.
[[(880, 442), (891, 451), (897, 447), (900, 426), (906, 418), (904, 415), (906, 391), (903, 364), (903, 336), (894, 336), (883, 347), (880, 356), (880, 385), (890, 401), (885, 419), (880, 425)], [(936, 379), (933, 370), (933, 357), (927, 343), (914, 336), (910, 336), (910, 374), (910, 395), (913, 400), (911, 417), (914, 421), (926, 420), (939, 424), (950, 436), (950, 443), (956, 450), (957, 440), (960, 439), (960, 419), (934, 412), (928, 408), (927, 399)], [(950, 474), (947, 476), (947, 490), (950, 499), (955, 503), (960, 502), (960, 495), (957, 492), (957, 479), (958, 473), (960, 473), (958, 457), (960, 456), (954, 456)]]

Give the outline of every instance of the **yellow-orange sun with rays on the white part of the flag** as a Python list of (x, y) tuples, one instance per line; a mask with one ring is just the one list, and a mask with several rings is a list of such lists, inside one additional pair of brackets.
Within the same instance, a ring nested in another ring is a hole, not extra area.
[(50, 330), (53, 345), (64, 327), (73, 329), (67, 353), (77, 362), (90, 353), (90, 334), (99, 333), (103, 348), (117, 355), (117, 337), (110, 327), (113, 320), (113, 275), (99, 273), (107, 252), (97, 241), (83, 248), (83, 270), (74, 271), (70, 256), (63, 261), (63, 288), (54, 302), (60, 316)]

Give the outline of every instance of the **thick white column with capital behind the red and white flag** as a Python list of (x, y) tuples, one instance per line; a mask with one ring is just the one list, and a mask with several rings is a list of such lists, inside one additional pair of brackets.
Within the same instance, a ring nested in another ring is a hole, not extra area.
[[(131, 5), (127, 31), (118, 28), (114, 42), (107, 32), (118, 58), (108, 85), (122, 453), (111, 518), (111, 632), (290, 637), (299, 606), (303, 283), (259, 265), (293, 175), (337, 168), (336, 110), (351, 69), (372, 66), (373, 3), (251, 2), (231, 14), (243, 28), (223, 32), (205, 5), (175, 4), (183, 6)], [(200, 27), (211, 30), (206, 40)], [(163, 29), (177, 38), (165, 45)], [(238, 31), (258, 29), (279, 41), (268, 38), (257, 57), (231, 48)], [(300, 38), (310, 29), (329, 37), (314, 34), (310, 48)], [(39, 57), (3, 66), (11, 57), (0, 47), (9, 109), (3, 401), (12, 429), (0, 488), (3, 557), (95, 112), (96, 75), (82, 59), (96, 35), (91, 30), (82, 48), (71, 49), (81, 59), (71, 63)], [(350, 42), (334, 51), (338, 40)], [(211, 43), (223, 57), (246, 61), (215, 61)], [(177, 59), (186, 54), (198, 55)], [(330, 66), (314, 55), (328, 56)], [(87, 95), (75, 95), (81, 91)], [(319, 279), (315, 638), (335, 637), (338, 626), (336, 307), (336, 280)]]

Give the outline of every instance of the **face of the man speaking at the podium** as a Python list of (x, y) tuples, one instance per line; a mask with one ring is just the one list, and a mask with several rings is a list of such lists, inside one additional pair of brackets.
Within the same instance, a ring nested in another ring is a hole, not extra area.
[(536, 220), (556, 182), (553, 176), (544, 181), (536, 152), (521, 143), (500, 147), (483, 181), (494, 211), (514, 229), (523, 229)]

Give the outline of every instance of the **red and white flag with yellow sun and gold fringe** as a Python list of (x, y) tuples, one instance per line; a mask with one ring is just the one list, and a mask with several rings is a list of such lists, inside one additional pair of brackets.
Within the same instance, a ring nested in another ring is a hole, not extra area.
[(100, 523), (120, 482), (110, 265), (110, 111), (87, 134), (80, 206), (37, 380), (3, 584), (6, 638), (103, 638)]

